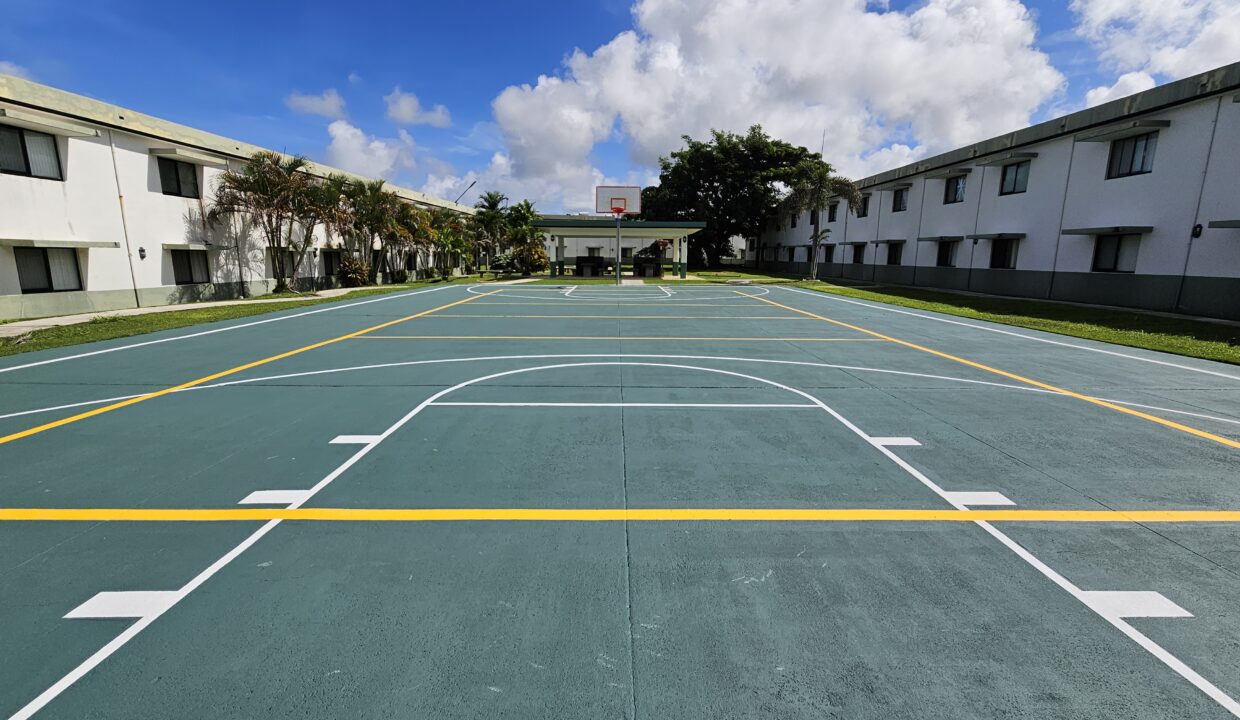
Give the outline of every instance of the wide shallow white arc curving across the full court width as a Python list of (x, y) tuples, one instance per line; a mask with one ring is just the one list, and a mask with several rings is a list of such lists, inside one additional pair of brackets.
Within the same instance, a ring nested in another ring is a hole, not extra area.
[[(343, 368), (329, 368), (322, 371), (306, 371), (300, 373), (285, 373), (279, 375), (264, 375), (260, 378), (247, 378), (243, 380), (228, 380), (224, 383), (213, 383), (210, 385), (196, 385), (192, 388), (185, 388), (182, 390), (175, 390), (174, 393), (192, 393), (197, 390), (210, 390), (216, 388), (227, 388), (232, 385), (244, 385), (250, 383), (263, 383), (269, 380), (286, 380), (294, 378), (304, 378), (310, 375), (321, 374), (334, 374), (334, 373), (346, 373), (357, 371), (374, 371), (374, 369), (387, 369), (398, 368), (408, 366), (422, 366), (422, 364), (439, 364), (439, 363), (461, 363), (461, 362), (491, 362), (491, 361), (511, 361), (511, 359), (567, 359), (567, 358), (660, 358), (660, 359), (707, 359), (707, 361), (723, 361), (723, 362), (745, 362), (745, 363), (769, 363), (769, 364), (787, 364), (787, 366), (804, 366), (804, 367), (816, 367), (816, 368), (831, 368), (842, 369), (852, 372), (864, 372), (864, 373), (882, 373), (890, 375), (905, 375), (911, 378), (925, 378), (932, 380), (946, 380), (954, 383), (965, 383), (971, 385), (988, 385), (992, 388), (1004, 388), (1008, 390), (1021, 390), (1023, 393), (1038, 393), (1043, 395), (1052, 395), (1056, 398), (1065, 398), (1063, 393), (1055, 393), (1052, 390), (1044, 390), (1042, 388), (1030, 388), (1028, 385), (1014, 385), (1008, 383), (994, 383), (990, 380), (975, 380), (968, 378), (955, 378), (950, 375), (936, 375), (929, 373), (914, 373), (908, 371), (889, 371), (883, 368), (867, 368), (861, 366), (842, 366), (833, 363), (816, 363), (807, 361), (780, 361), (780, 359), (765, 359), (765, 358), (738, 358), (738, 357), (722, 357), (722, 356), (698, 356), (698, 354), (614, 354), (614, 353), (601, 353), (601, 354), (516, 354), (516, 356), (482, 356), (482, 357), (466, 357), (466, 358), (443, 358), (443, 359), (427, 359), (427, 361), (404, 361), (394, 363), (378, 363), (368, 366), (353, 366)], [(0, 420), (6, 420), (9, 418), (20, 418), (22, 415), (36, 415), (40, 413), (53, 413), (56, 410), (72, 410), (73, 408), (86, 408), (89, 405), (103, 405), (105, 403), (118, 403), (120, 400), (129, 400), (131, 398), (140, 398), (149, 393), (135, 393), (133, 395), (118, 395), (115, 398), (102, 398), (99, 400), (83, 400), (81, 403), (69, 403), (66, 405), (52, 405), (48, 408), (35, 408), (32, 410), (19, 410), (16, 413), (9, 413), (0, 415)], [(1189, 418), (1200, 418), (1203, 420), (1213, 420), (1215, 423), (1226, 423), (1229, 425), (1240, 425), (1240, 420), (1235, 418), (1220, 418), (1218, 415), (1207, 415), (1204, 413), (1190, 413), (1188, 410), (1176, 410), (1173, 408), (1161, 408), (1158, 405), (1145, 405), (1141, 403), (1130, 403), (1126, 400), (1115, 400), (1110, 398), (1099, 398), (1106, 403), (1115, 403), (1116, 405), (1127, 405), (1130, 408), (1141, 408), (1145, 410), (1157, 410), (1159, 413), (1172, 413), (1176, 415), (1185, 415)]]

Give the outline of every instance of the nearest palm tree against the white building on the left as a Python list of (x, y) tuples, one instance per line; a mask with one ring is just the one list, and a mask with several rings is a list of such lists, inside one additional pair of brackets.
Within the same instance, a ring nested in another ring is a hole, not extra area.
[(258, 224), (272, 257), (277, 292), (288, 291), (289, 280), (296, 273), (296, 263), (288, 266), (285, 249), (295, 219), (294, 198), (309, 182), (304, 172), (306, 165), (309, 161), (301, 156), (255, 152), (241, 172), (227, 170), (219, 175), (207, 212), (207, 222), (212, 226), (234, 216), (247, 216)]

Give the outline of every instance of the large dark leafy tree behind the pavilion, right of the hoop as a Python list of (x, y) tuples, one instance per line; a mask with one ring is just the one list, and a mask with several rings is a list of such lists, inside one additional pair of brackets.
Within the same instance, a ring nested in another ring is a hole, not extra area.
[(642, 217), (704, 221), (691, 249), (715, 265), (732, 254), (732, 238), (758, 237), (779, 209), (792, 170), (817, 157), (775, 140), (754, 125), (744, 135), (711, 131), (709, 141), (684, 136), (684, 147), (658, 160), (658, 186), (642, 191)]

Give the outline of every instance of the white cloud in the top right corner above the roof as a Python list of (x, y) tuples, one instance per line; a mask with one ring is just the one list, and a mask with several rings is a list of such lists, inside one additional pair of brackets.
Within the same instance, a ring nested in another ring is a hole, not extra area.
[(1094, 88), (1095, 99), (1153, 87), (1240, 59), (1238, 0), (1073, 0), (1076, 31), (1099, 51), (1104, 66), (1123, 73), (1115, 86)]

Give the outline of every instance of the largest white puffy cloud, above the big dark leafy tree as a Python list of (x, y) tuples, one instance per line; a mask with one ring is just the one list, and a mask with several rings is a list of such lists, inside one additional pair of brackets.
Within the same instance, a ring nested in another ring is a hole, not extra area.
[(640, 0), (634, 19), (635, 30), (573, 52), (560, 73), (495, 99), (507, 149), (496, 177), (572, 198), (575, 186), (591, 191), (599, 143), (620, 139), (652, 167), (682, 135), (754, 123), (812, 149), (826, 130), (827, 160), (859, 176), (1023, 126), (1064, 84), (1018, 0), (906, 11), (866, 0)]

